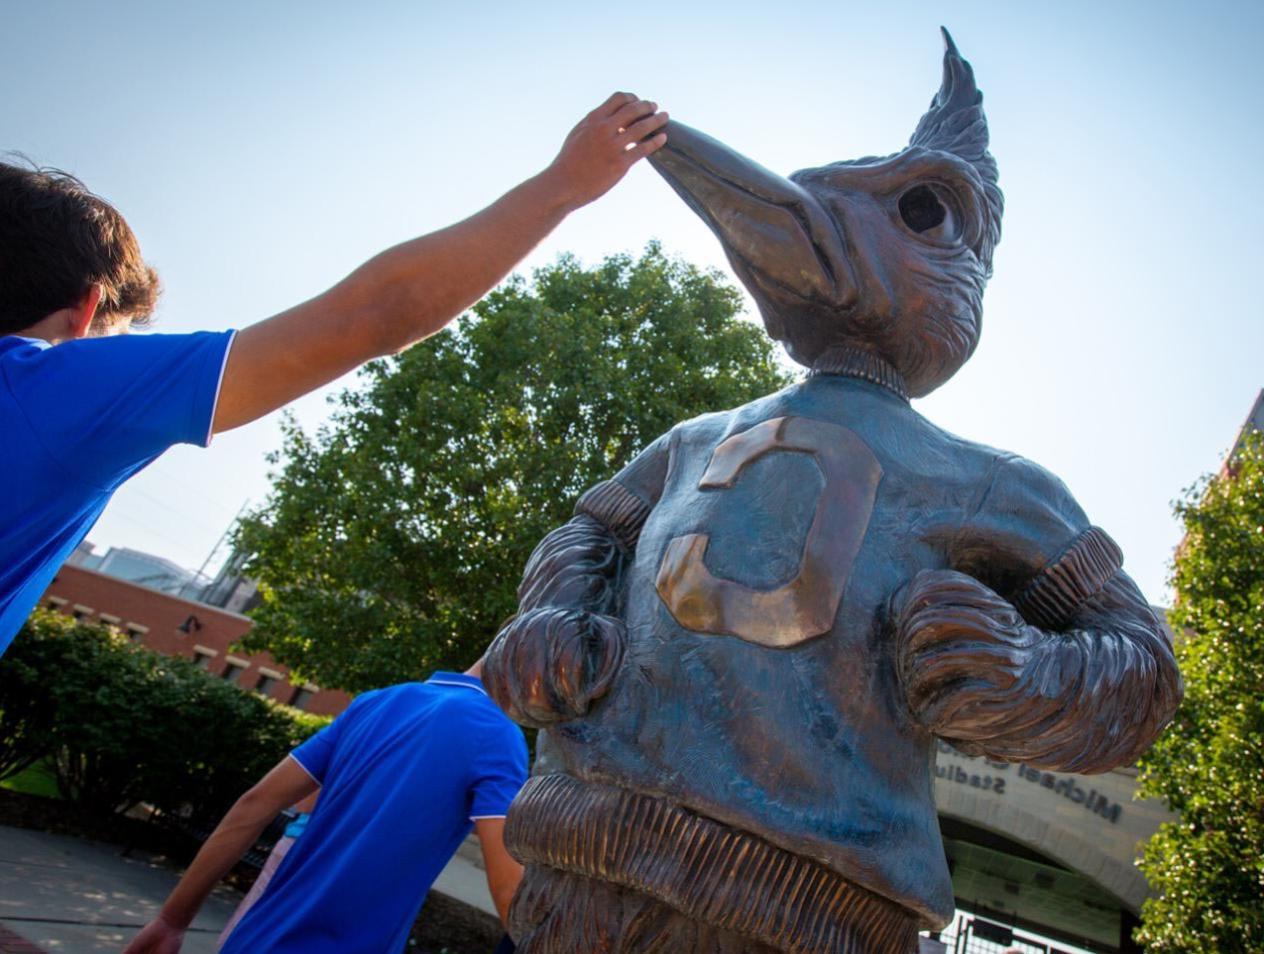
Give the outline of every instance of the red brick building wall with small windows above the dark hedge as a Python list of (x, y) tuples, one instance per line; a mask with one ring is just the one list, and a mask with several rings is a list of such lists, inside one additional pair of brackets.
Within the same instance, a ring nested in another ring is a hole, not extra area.
[[(56, 608), (68, 615), (77, 613), (87, 622), (110, 623), (123, 632), (129, 632), (130, 625), (131, 632), (139, 633), (139, 642), (167, 656), (192, 660), (214, 653), (207, 656), (206, 668), (215, 675), (222, 675), (233, 665), (230, 658), (244, 662), (244, 667), (236, 667), (240, 668), (236, 684), (243, 689), (254, 689), (259, 677), (267, 675), (260, 672), (262, 667), (279, 676), (267, 691), (278, 703), (293, 701), (301, 687), (289, 681), (289, 670), (278, 665), (268, 653), (233, 652), (229, 647), (254, 624), (246, 617), (217, 607), (179, 599), (116, 576), (70, 565), (57, 571), (40, 605)], [(187, 633), (179, 628), (186, 624), (190, 631)], [(346, 692), (317, 689), (302, 708), (319, 715), (337, 715), (350, 701), (351, 696)]]

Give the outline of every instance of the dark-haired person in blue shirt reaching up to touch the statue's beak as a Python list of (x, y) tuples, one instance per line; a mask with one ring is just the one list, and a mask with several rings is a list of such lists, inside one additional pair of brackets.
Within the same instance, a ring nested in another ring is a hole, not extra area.
[(439, 331), (659, 149), (666, 121), (614, 94), (482, 212), (235, 335), (116, 334), (158, 296), (126, 221), (73, 177), (0, 163), (0, 653), (123, 481)]

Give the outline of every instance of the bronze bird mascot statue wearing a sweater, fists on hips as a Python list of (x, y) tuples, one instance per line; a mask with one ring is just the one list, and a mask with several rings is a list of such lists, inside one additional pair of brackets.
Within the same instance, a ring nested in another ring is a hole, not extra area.
[(909, 145), (789, 178), (652, 159), (810, 369), (686, 421), (538, 545), (485, 679), (545, 729), (507, 821), (523, 954), (909, 951), (953, 915), (935, 738), (1101, 772), (1181, 680), (1066, 486), (910, 397), (978, 341), (1001, 192), (944, 33)]

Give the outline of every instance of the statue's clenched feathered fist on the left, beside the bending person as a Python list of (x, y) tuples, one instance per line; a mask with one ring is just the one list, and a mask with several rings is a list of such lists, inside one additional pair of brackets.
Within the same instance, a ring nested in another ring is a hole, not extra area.
[(623, 658), (617, 619), (547, 607), (516, 617), (492, 643), (483, 682), (509, 718), (537, 728), (584, 715)]

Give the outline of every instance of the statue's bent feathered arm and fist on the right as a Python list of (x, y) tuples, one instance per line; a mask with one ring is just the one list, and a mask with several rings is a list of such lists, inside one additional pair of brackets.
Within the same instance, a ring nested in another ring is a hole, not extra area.
[[(1038, 494), (1066, 494), (1060, 484), (1040, 483)], [(1181, 701), (1167, 631), (1120, 569), (1119, 547), (1096, 527), (1081, 529), (1034, 574), (1024, 571), (1040, 552), (1033, 538), (1087, 521), (1073, 502), (1059, 508), (1057, 500), (1026, 519), (1015, 505), (1023, 488), (997, 495), (999, 519), (981, 521), (986, 532), (962, 548), (971, 572), (925, 570), (897, 598), (909, 706), (972, 754), (1068, 772), (1127, 764)], [(1015, 579), (1023, 583), (1011, 589)]]

